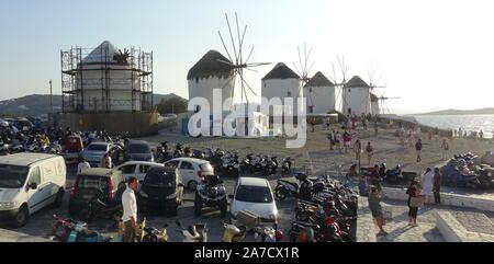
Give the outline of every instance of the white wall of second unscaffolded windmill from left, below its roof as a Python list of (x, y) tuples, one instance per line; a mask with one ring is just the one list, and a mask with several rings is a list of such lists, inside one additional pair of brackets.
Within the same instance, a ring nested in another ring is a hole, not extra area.
[[(273, 80), (263, 80), (261, 83), (261, 96), (268, 100), (272, 97), (279, 97), (284, 103), (285, 97), (293, 99), (293, 113), (296, 115), (297, 113), (297, 97), (303, 95), (303, 91), (301, 89), (301, 82), (299, 79), (273, 79)], [(288, 94), (291, 94), (289, 96)], [(303, 105), (305, 108), (305, 106)], [(272, 113), (270, 113), (271, 115)]]

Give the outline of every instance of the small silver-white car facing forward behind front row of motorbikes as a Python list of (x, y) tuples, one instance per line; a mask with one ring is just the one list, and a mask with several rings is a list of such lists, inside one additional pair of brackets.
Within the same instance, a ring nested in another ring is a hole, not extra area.
[(268, 180), (239, 177), (235, 192), (229, 197), (232, 198), (229, 211), (233, 225), (236, 225), (237, 214), (242, 210), (248, 210), (258, 215), (261, 225), (278, 222), (278, 207)]

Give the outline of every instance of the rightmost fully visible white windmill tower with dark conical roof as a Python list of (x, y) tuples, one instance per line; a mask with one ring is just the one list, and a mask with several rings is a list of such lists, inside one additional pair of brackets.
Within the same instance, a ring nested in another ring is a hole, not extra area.
[(370, 87), (360, 77), (353, 76), (343, 88), (341, 112), (345, 115), (371, 113)]

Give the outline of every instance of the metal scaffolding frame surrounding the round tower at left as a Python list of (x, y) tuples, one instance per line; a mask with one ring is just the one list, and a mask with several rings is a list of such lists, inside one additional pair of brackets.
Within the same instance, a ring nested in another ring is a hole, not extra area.
[[(125, 53), (110, 54), (109, 46), (100, 47), (101, 58), (94, 61), (85, 60), (93, 48), (75, 46), (60, 50), (63, 112), (110, 113), (122, 111), (119, 105), (130, 105), (124, 111), (153, 111), (153, 51), (132, 47)], [(121, 57), (116, 58), (119, 55)], [(116, 74), (117, 71), (125, 72)], [(100, 73), (94, 77), (91, 72)], [(85, 93), (89, 91), (101, 93), (88, 100)], [(119, 91), (121, 94), (130, 92), (130, 95), (112, 97)]]

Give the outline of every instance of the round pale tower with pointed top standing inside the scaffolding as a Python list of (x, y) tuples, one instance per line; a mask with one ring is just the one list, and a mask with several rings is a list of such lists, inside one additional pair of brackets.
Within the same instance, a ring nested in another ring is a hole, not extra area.
[(77, 108), (91, 112), (141, 111), (141, 79), (130, 61), (117, 61), (119, 49), (105, 41), (78, 64)]

